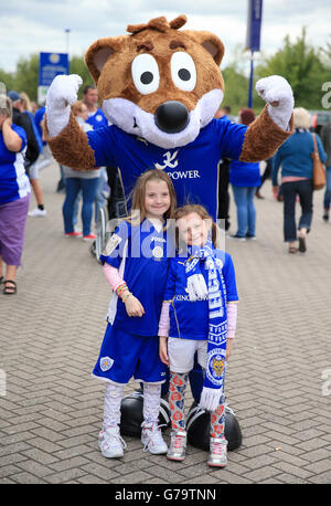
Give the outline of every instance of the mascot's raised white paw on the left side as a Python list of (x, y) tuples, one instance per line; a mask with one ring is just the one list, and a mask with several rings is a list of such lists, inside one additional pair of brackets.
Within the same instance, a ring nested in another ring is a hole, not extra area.
[(77, 101), (83, 80), (77, 74), (57, 75), (46, 95), (46, 109), (51, 137), (63, 130), (70, 119), (71, 105)]

